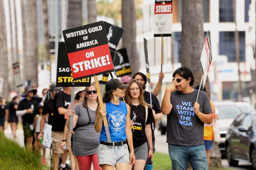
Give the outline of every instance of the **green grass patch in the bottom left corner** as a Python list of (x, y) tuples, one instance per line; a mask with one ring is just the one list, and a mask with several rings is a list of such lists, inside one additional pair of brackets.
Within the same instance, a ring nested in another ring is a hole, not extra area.
[(0, 133), (0, 169), (45, 170), (49, 168), (40, 165), (38, 154), (26, 151), (19, 144)]

